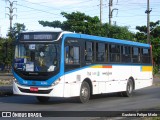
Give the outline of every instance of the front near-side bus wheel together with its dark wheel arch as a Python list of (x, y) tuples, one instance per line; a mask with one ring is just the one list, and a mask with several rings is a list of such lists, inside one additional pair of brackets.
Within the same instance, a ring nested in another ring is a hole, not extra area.
[(80, 87), (80, 95), (78, 101), (81, 103), (87, 103), (92, 95), (92, 83), (89, 78), (83, 80)]

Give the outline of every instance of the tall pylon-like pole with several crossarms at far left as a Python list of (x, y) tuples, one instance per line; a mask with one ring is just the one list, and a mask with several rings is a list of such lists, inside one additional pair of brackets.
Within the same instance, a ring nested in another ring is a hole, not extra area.
[(10, 1), (10, 0), (6, 0), (6, 2), (9, 2), (9, 7), (6, 7), (9, 9), (9, 13), (6, 13), (6, 15), (9, 16), (9, 20), (10, 20), (10, 32), (12, 32), (12, 20), (13, 20), (13, 17), (16, 16), (16, 14), (13, 14), (13, 10), (14, 9), (17, 9), (17, 8), (14, 8), (13, 5), (15, 2), (17, 1)]

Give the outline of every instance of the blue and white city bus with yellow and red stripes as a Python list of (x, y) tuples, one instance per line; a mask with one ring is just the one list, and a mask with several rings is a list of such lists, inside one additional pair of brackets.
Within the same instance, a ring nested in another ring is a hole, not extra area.
[(77, 97), (121, 93), (152, 85), (149, 44), (71, 32), (23, 32), (16, 41), (13, 92), (36, 96)]

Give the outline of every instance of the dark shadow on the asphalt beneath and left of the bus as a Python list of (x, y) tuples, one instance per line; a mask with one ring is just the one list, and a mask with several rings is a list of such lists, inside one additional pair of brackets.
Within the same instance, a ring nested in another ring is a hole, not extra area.
[[(134, 92), (133, 98), (136, 96), (141, 96), (140, 92)], [(89, 103), (94, 103), (97, 101), (111, 101), (113, 99), (128, 99), (127, 97), (120, 96), (117, 93), (109, 93), (109, 94), (101, 94), (101, 95), (93, 95), (90, 98)], [(52, 97), (47, 103), (40, 103), (34, 96), (1, 96), (0, 102), (3, 103), (15, 103), (15, 104), (41, 104), (41, 105), (50, 105), (50, 104), (62, 104), (62, 103), (76, 103), (81, 104), (78, 102), (77, 97), (73, 98), (62, 98), (62, 97)]]

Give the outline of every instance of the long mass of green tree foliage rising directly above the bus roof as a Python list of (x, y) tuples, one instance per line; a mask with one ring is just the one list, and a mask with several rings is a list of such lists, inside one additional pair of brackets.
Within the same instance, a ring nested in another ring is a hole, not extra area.
[(108, 23), (101, 24), (97, 16), (90, 17), (81, 12), (72, 12), (71, 14), (62, 12), (61, 15), (66, 21), (58, 20), (48, 22), (39, 21), (44, 27), (61, 28), (64, 31), (72, 31), (76, 33), (85, 33), (89, 35), (97, 35), (103, 37), (119, 38), (133, 40), (133, 33), (128, 31), (127, 27), (110, 26)]

